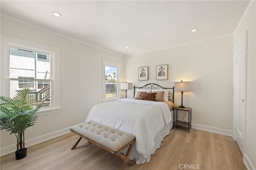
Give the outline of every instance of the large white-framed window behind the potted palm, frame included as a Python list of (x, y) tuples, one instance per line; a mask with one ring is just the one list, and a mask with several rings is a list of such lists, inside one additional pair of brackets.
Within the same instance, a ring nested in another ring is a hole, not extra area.
[[(59, 109), (59, 49), (1, 36), (1, 95), (13, 98), (23, 88), (30, 88), (35, 106), (48, 113)], [(4, 65), (5, 64), (5, 65)], [(3, 69), (5, 68), (5, 69)], [(2, 81), (6, 80), (6, 81)], [(3, 89), (2, 87), (5, 87)]]

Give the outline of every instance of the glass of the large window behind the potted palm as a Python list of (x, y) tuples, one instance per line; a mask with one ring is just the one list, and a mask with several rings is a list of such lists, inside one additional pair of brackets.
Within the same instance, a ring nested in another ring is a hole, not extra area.
[(35, 106), (44, 103), (43, 107), (51, 107), (50, 54), (14, 47), (9, 49), (10, 98), (23, 88), (30, 88)]

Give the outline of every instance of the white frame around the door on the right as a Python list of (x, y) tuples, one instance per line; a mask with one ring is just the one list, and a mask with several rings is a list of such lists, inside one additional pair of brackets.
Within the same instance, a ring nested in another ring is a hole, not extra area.
[(236, 125), (237, 125), (237, 114), (238, 114), (238, 107), (236, 107), (237, 105), (237, 98), (238, 98), (238, 85), (236, 84), (236, 57), (237, 57), (237, 53), (236, 53), (236, 49), (238, 49), (238, 47), (241, 45), (241, 43), (244, 41), (244, 146), (243, 146), (243, 155), (244, 155), (244, 151), (245, 151), (245, 144), (246, 144), (246, 86), (247, 86), (247, 40), (248, 40), (248, 31), (246, 31), (244, 33), (244, 35), (242, 36), (242, 38), (240, 39), (240, 41), (238, 41), (238, 43), (235, 45), (234, 47), (234, 86), (233, 86), (233, 139), (236, 141), (237, 136), (236, 136)]

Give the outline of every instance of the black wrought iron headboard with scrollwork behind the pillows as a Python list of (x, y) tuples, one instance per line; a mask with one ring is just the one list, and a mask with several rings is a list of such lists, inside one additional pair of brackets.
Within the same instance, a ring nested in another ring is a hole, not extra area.
[[(134, 96), (135, 96), (135, 89), (153, 89), (153, 90), (169, 90), (169, 95), (168, 95), (168, 100), (171, 101), (172, 103), (174, 103), (174, 86), (171, 87), (171, 88), (165, 88), (165, 87), (162, 87), (162, 86), (159, 86), (158, 84), (155, 84), (155, 83), (149, 83), (149, 84), (146, 84), (145, 86), (142, 86), (142, 87), (133, 87), (134, 89)], [(172, 89), (172, 90), (171, 90)]]

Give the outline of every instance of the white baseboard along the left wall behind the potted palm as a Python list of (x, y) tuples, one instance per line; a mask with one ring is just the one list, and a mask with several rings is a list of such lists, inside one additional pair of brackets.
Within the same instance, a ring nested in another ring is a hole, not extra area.
[[(38, 143), (41, 143), (41, 142), (47, 141), (49, 139), (64, 135), (64, 134), (69, 133), (69, 132), (70, 132), (70, 128), (68, 127), (68, 128), (61, 129), (61, 130), (58, 130), (58, 131), (55, 131), (55, 132), (52, 132), (52, 133), (48, 133), (46, 135), (42, 135), (40, 137), (29, 139), (29, 140), (26, 141), (26, 147), (36, 145)], [(12, 153), (12, 152), (15, 152), (15, 151), (16, 151), (16, 144), (13, 144), (13, 145), (10, 145), (8, 147), (1, 148), (0, 156), (4, 156), (6, 154), (9, 154), (9, 153)]]

